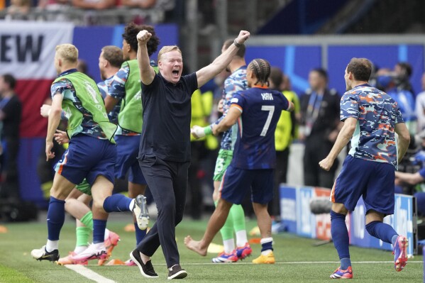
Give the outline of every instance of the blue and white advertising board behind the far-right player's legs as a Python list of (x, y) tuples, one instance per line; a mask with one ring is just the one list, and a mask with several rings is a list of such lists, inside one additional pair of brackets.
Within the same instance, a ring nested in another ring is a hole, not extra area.
[[(310, 211), (310, 201), (314, 197), (329, 196), (331, 190), (314, 187), (280, 186), (280, 205), (284, 231), (303, 237), (328, 240), (331, 238), (331, 216), (329, 213), (314, 215)], [(394, 227), (409, 239), (408, 255), (416, 254), (416, 211), (414, 197), (395, 194), (394, 215), (384, 218), (385, 223)], [(294, 213), (295, 212), (295, 213)], [(392, 250), (392, 245), (369, 235), (365, 229), (365, 205), (360, 198), (355, 210), (346, 218), (350, 234), (350, 244), (364, 248)]]

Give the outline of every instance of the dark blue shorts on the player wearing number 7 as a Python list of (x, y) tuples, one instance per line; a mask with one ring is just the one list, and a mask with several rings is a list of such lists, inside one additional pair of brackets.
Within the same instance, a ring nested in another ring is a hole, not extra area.
[(251, 201), (267, 204), (273, 198), (274, 174), (272, 169), (246, 170), (228, 165), (220, 184), (220, 198), (232, 204), (242, 204), (251, 190)]

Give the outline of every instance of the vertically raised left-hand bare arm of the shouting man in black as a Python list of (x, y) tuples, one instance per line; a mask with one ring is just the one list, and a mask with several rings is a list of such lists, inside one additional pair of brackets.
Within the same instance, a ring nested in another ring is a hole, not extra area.
[(148, 30), (140, 30), (137, 35), (137, 62), (140, 70), (140, 79), (145, 85), (151, 84), (155, 78), (155, 70), (150, 66), (148, 46), (146, 45), (151, 36), (152, 33), (149, 33)]

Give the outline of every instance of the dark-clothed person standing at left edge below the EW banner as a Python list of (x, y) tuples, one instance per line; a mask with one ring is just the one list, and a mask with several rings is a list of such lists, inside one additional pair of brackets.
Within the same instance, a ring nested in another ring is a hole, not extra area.
[(0, 76), (0, 140), (1, 194), (20, 199), (18, 183), (19, 124), (22, 105), (15, 94), (16, 79), (11, 74)]

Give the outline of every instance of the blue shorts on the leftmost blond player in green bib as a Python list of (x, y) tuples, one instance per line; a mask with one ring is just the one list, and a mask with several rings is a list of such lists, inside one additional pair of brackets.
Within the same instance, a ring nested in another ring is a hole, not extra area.
[(90, 186), (97, 176), (103, 175), (114, 184), (116, 145), (89, 135), (76, 135), (57, 162), (55, 171), (72, 184), (80, 184), (84, 178)]

